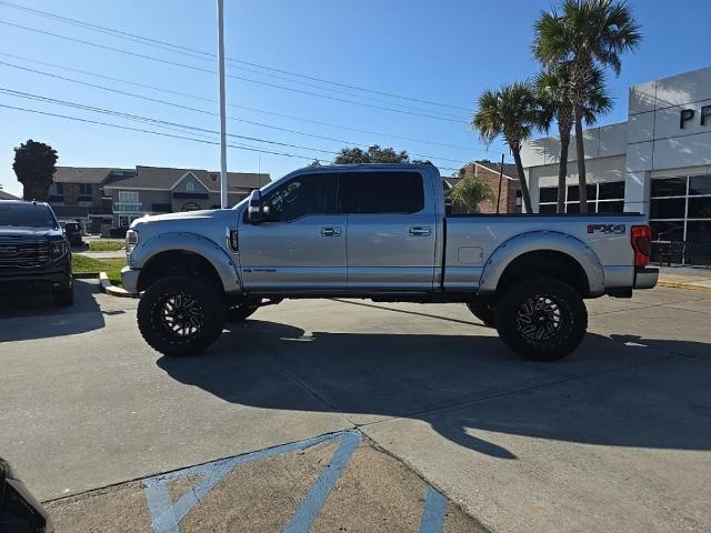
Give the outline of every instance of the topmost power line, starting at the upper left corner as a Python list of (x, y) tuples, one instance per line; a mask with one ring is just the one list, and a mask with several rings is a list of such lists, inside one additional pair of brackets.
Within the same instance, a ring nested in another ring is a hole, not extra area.
[[(28, 8), (24, 6), (19, 6), (17, 3), (12, 3), (12, 2), (7, 2), (7, 1), (0, 1), (0, 6), (4, 6), (8, 8), (13, 8), (13, 9), (19, 9), (26, 12), (30, 12), (40, 17), (46, 17), (46, 18), (50, 18), (53, 20), (59, 20), (61, 22), (66, 22), (69, 24), (74, 24), (74, 26), (79, 26), (86, 29), (90, 29), (93, 31), (99, 31), (101, 33), (107, 33), (107, 34), (111, 34), (113, 37), (117, 38), (121, 38), (121, 39), (126, 39), (132, 42), (139, 42), (142, 44), (152, 44), (152, 46), (157, 46), (157, 48), (160, 48), (162, 50), (169, 50), (172, 52), (177, 52), (177, 51), (181, 51), (182, 53), (184, 52), (190, 52), (187, 56), (192, 57), (192, 58), (216, 58), (214, 53), (211, 52), (206, 52), (203, 50), (198, 50), (198, 49), (193, 49), (193, 48), (189, 48), (189, 47), (184, 47), (181, 44), (176, 44), (176, 43), (171, 43), (171, 42), (167, 42), (167, 41), (162, 41), (159, 39), (153, 39), (153, 38), (149, 38), (149, 37), (143, 37), (143, 36), (138, 36), (136, 33), (130, 33), (127, 31), (122, 31), (122, 30), (117, 30), (113, 28), (108, 28), (108, 27), (103, 27), (103, 26), (99, 26), (99, 24), (92, 24), (90, 22), (84, 22), (81, 20), (77, 20), (77, 19), (72, 19), (69, 17), (62, 17), (56, 13), (51, 13), (48, 11), (41, 11), (38, 9), (32, 9), (32, 8)], [(168, 47), (168, 48), (166, 48)], [(196, 56), (198, 54), (198, 56)], [(471, 112), (471, 109), (469, 108), (463, 108), (463, 107), (459, 107), (459, 105), (451, 105), (448, 103), (441, 103), (441, 102), (434, 102), (431, 100), (422, 100), (422, 99), (417, 99), (417, 98), (411, 98), (411, 97), (404, 97), (401, 94), (395, 94), (395, 93), (391, 93), (391, 92), (385, 92), (385, 91), (379, 91), (379, 90), (374, 90), (374, 89), (367, 89), (363, 87), (359, 87), (359, 86), (354, 86), (354, 84), (350, 84), (350, 83), (342, 83), (342, 82), (338, 82), (338, 81), (332, 81), (332, 80), (327, 80), (323, 78), (317, 78), (313, 76), (308, 76), (308, 74), (303, 74), (303, 73), (299, 73), (299, 72), (293, 72), (293, 71), (288, 71), (288, 70), (282, 70), (282, 69), (277, 69), (273, 67), (268, 67), (264, 64), (260, 64), (260, 63), (254, 63), (254, 62), (250, 62), (250, 61), (242, 61), (242, 60), (238, 60), (234, 58), (227, 58), (228, 61), (230, 62), (234, 62), (234, 63), (239, 63), (239, 64), (247, 64), (250, 67), (257, 67), (260, 69), (264, 69), (264, 70), (269, 70), (272, 72), (279, 72), (282, 74), (288, 74), (288, 76), (293, 76), (297, 78), (303, 78), (303, 79), (308, 79), (308, 80), (312, 80), (312, 81), (318, 81), (321, 83), (329, 83), (332, 86), (338, 86), (338, 87), (343, 87), (343, 88), (348, 88), (348, 89), (353, 89), (353, 90), (358, 90), (358, 91), (362, 91), (362, 92), (370, 92), (373, 94), (380, 94), (380, 95), (384, 95), (384, 97), (390, 97), (390, 98), (398, 98), (398, 99), (402, 99), (402, 100), (408, 100), (408, 101), (412, 101), (412, 102), (419, 102), (419, 103), (425, 103), (425, 104), (430, 104), (430, 105), (438, 105), (438, 107), (443, 107), (443, 108), (450, 108), (450, 109), (457, 109), (457, 110), (461, 110), (461, 111), (469, 111)]]

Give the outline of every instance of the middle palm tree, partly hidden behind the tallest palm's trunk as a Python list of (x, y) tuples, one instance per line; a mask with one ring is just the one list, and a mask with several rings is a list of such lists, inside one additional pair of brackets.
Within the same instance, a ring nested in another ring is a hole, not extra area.
[[(541, 107), (540, 127), (548, 130), (553, 119), (558, 122), (560, 139), (560, 158), (558, 167), (558, 209), (565, 212), (565, 178), (568, 175), (568, 148), (570, 145), (570, 130), (573, 127), (573, 103), (570, 97), (570, 72), (568, 64), (555, 67), (541, 72), (535, 78), (535, 92)], [(604, 86), (604, 74), (600, 69), (593, 70), (583, 103), (583, 119), (587, 125), (592, 125), (598, 115), (612, 109), (612, 99)]]

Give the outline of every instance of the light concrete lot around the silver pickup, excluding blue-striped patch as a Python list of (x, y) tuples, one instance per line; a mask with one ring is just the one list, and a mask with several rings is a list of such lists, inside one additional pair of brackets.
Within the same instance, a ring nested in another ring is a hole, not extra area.
[(134, 300), (78, 285), (69, 312), (0, 302), (0, 455), (42, 500), (357, 429), (495, 532), (711, 530), (711, 293), (589, 301), (542, 364), (463, 305), (338, 300), (169, 359)]

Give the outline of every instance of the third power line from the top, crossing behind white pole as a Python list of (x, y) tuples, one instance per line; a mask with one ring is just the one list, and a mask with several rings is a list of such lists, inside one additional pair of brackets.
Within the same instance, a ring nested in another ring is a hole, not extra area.
[[(179, 95), (179, 97), (191, 98), (191, 99), (194, 99), (194, 100), (202, 100), (204, 102), (212, 102), (212, 103), (217, 102), (217, 100), (212, 99), (212, 98), (200, 97), (200, 95), (191, 94), (191, 93), (188, 93), (188, 92), (176, 91), (173, 89), (166, 89), (166, 88), (162, 88), (162, 87), (150, 86), (150, 84), (146, 84), (146, 83), (139, 83), (137, 81), (124, 80), (124, 79), (114, 78), (114, 77), (111, 77), (111, 76), (98, 74), (96, 72), (89, 72), (89, 71), (86, 71), (86, 70), (81, 70), (81, 69), (74, 69), (74, 68), (71, 68), (71, 67), (57, 64), (57, 63), (50, 63), (48, 61), (40, 61), (38, 59), (26, 58), (26, 57), (16, 56), (16, 54), (12, 54), (12, 53), (0, 52), (0, 56), (4, 56), (4, 57), (8, 57), (8, 58), (13, 58), (13, 59), (19, 59), (21, 61), (28, 61), (28, 62), (31, 62), (31, 63), (43, 64), (43, 66), (47, 66), (47, 67), (52, 67), (54, 69), (67, 70), (67, 71), (70, 71), (70, 72), (77, 72), (77, 73), (84, 74), (84, 76), (90, 76), (90, 77), (93, 77), (93, 78), (100, 78), (100, 79), (104, 79), (104, 80), (109, 80), (109, 81), (116, 81), (116, 82), (119, 82), (119, 83), (126, 83), (126, 84), (129, 84), (129, 86), (140, 87), (142, 89), (150, 89), (150, 90), (153, 90), (153, 91), (166, 92), (166, 93), (176, 94), (176, 95)], [(11, 63), (3, 63), (3, 64), (6, 64), (8, 67), (19, 68), (19, 69), (23, 68), (23, 67), (14, 66), (14, 64), (11, 64)], [(52, 76), (52, 74), (49, 74), (47, 72), (41, 72), (41, 71), (33, 71), (33, 72), (41, 73), (41, 74), (44, 74), (44, 76)], [(77, 83), (82, 83), (79, 80), (71, 80), (71, 81), (77, 82)], [(437, 141), (428, 141), (428, 140), (424, 140), (424, 139), (417, 139), (417, 138), (411, 138), (411, 137), (397, 135), (397, 134), (393, 134), (393, 133), (383, 133), (383, 132), (378, 132), (378, 131), (372, 131), (372, 130), (363, 130), (363, 129), (360, 129), (360, 128), (353, 128), (353, 127), (348, 127), (348, 125), (343, 125), (343, 124), (334, 124), (332, 122), (322, 122), (322, 121), (318, 121), (318, 120), (313, 120), (313, 119), (307, 119), (304, 117), (297, 117), (297, 115), (292, 115), (292, 114), (278, 113), (278, 112), (268, 111), (268, 110), (264, 110), (264, 109), (250, 108), (250, 107), (247, 107), (247, 105), (238, 105), (238, 104), (233, 104), (233, 103), (228, 103), (228, 107), (236, 108), (236, 109), (243, 109), (243, 110), (247, 110), (247, 111), (253, 111), (253, 112), (262, 113), (262, 114), (270, 114), (270, 115), (273, 115), (273, 117), (280, 117), (280, 118), (283, 118), (283, 119), (296, 120), (296, 121), (300, 121), (300, 122), (307, 122), (307, 123), (312, 123), (312, 124), (318, 124), (318, 125), (326, 125), (328, 128), (336, 128), (336, 129), (346, 130), (346, 131), (354, 131), (354, 132), (358, 132), (358, 133), (367, 133), (367, 134), (370, 134), (370, 135), (378, 135), (378, 137), (384, 137), (384, 138), (390, 138), (390, 139), (400, 139), (400, 140), (409, 141), (409, 142), (419, 142), (419, 143), (422, 143), (422, 144), (431, 144), (433, 147), (451, 148), (451, 149), (454, 149), (454, 150), (475, 151), (475, 152), (481, 152), (481, 153), (494, 153), (494, 152), (491, 152), (490, 150), (472, 149), (471, 147), (464, 147), (464, 145), (458, 145), (458, 144), (449, 144), (449, 143), (437, 142)], [(274, 127), (274, 125), (271, 125), (271, 124), (264, 124), (264, 123), (260, 123), (260, 122), (251, 122), (251, 121), (247, 121), (247, 120), (243, 120), (243, 119), (232, 118), (232, 120), (237, 120), (237, 121), (240, 121), (240, 122), (247, 122), (247, 123), (253, 123), (256, 125), (261, 125), (261, 127), (264, 127), (264, 128), (278, 128), (278, 127)], [(318, 138), (318, 135), (313, 135), (311, 133), (298, 132), (298, 131), (294, 131), (294, 130), (287, 130), (287, 129), (284, 129), (284, 131), (291, 131), (291, 132), (294, 132), (294, 133), (299, 133), (299, 134), (303, 134), (303, 135), (308, 135), (308, 137), (317, 137)], [(329, 140), (329, 139), (324, 138), (324, 140)], [(347, 141), (340, 141), (340, 140), (336, 140), (336, 141), (337, 142), (347, 142)], [(351, 143), (351, 144), (357, 144), (357, 143)], [(361, 144), (361, 145), (364, 145), (364, 144)]]

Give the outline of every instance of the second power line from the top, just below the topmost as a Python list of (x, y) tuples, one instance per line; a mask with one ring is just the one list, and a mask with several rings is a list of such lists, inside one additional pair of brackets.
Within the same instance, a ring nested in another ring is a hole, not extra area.
[[(34, 32), (34, 33), (50, 36), (50, 37), (54, 37), (54, 38), (58, 38), (58, 39), (63, 39), (63, 40), (67, 40), (67, 41), (70, 41), (70, 42), (77, 42), (77, 43), (80, 43), (80, 44), (86, 44), (86, 46), (89, 46), (89, 47), (99, 48), (101, 50), (109, 50), (109, 51), (112, 51), (112, 52), (123, 53), (123, 54), (131, 56), (131, 57), (134, 57), (134, 58), (147, 59), (147, 60), (150, 60), (150, 61), (156, 61), (156, 62), (163, 63), (163, 64), (169, 64), (169, 66), (172, 66), (172, 67), (180, 67), (180, 68), (189, 69), (189, 70), (196, 71), (196, 72), (204, 72), (204, 73), (217, 76), (217, 72), (211, 70), (211, 69), (203, 69), (201, 67), (196, 67), (196, 66), (192, 66), (192, 64), (186, 64), (186, 63), (180, 63), (178, 61), (171, 61), (171, 60), (168, 60), (168, 59), (156, 58), (153, 56), (147, 56), (144, 53), (131, 52), (129, 50), (123, 50), (121, 48), (108, 47), (106, 44), (99, 44), (97, 42), (84, 41), (82, 39), (77, 39), (77, 38), (68, 37), (68, 36), (62, 36), (62, 34), (59, 34), (59, 33), (53, 33), (51, 31), (40, 30), (38, 28), (30, 28), (30, 27), (22, 26), (22, 24), (16, 24), (13, 22), (8, 22), (6, 20), (0, 20), (0, 24), (9, 26), (11, 28), (17, 28), (17, 29), (26, 30), (26, 31), (31, 31), (31, 32)], [(318, 93), (318, 92), (304, 91), (302, 89), (296, 89), (293, 87), (280, 86), (278, 83), (270, 83), (268, 81), (253, 80), (251, 78), (244, 78), (244, 77), (236, 76), (236, 74), (227, 74), (227, 77), (236, 79), (236, 80), (240, 80), (240, 81), (247, 81), (249, 83), (257, 83), (257, 84), (264, 86), (264, 87), (271, 87), (271, 88), (274, 88), (274, 89), (281, 89), (281, 90), (284, 90), (284, 91), (296, 92), (296, 93), (299, 93), (299, 94), (306, 94), (306, 95), (316, 97), (316, 98), (323, 98), (323, 99), (336, 101), (336, 102), (349, 103), (349, 104), (353, 104), (353, 105), (361, 105), (361, 107), (372, 108), (372, 109), (379, 109), (381, 111), (389, 111), (389, 112), (393, 112), (393, 113), (410, 114), (410, 115), (413, 115), (413, 117), (421, 117), (421, 118), (431, 119), (431, 120), (441, 120), (441, 121), (445, 121), (445, 122), (455, 122), (455, 123), (465, 123), (465, 121), (468, 120), (467, 118), (450, 118), (450, 117), (443, 117), (443, 115), (420, 113), (420, 112), (415, 112), (415, 111), (408, 111), (408, 110), (404, 110), (404, 109), (397, 109), (397, 108), (390, 108), (390, 107), (384, 107), (384, 105), (375, 105), (375, 104), (372, 104), (372, 103), (358, 102), (356, 100), (348, 100), (348, 99), (344, 99), (344, 98), (332, 97), (332, 95), (329, 95), (329, 94), (321, 94), (321, 93)]]

